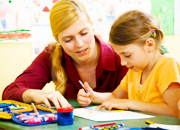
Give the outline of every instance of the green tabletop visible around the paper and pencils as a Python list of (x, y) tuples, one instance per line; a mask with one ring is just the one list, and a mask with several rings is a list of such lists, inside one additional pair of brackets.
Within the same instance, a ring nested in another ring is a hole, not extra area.
[[(69, 99), (68, 101), (74, 108), (80, 107), (76, 100)], [(158, 124), (180, 125), (180, 119), (178, 118), (173, 118), (173, 117), (168, 117), (168, 116), (163, 116), (163, 115), (156, 115), (156, 114), (145, 113), (145, 112), (140, 112), (140, 113), (149, 114), (156, 117), (147, 118), (147, 119), (136, 119), (136, 120), (97, 122), (97, 121), (86, 120), (86, 119), (74, 116), (74, 124), (69, 125), (69, 126), (58, 126), (57, 123), (38, 125), (38, 126), (23, 126), (23, 125), (16, 124), (11, 120), (0, 120), (0, 129), (4, 128), (6, 130), (78, 130), (78, 128), (82, 126), (97, 125), (97, 124), (110, 123), (110, 122), (124, 123), (126, 127), (145, 127), (147, 126), (147, 124), (145, 123), (145, 120), (150, 120)]]

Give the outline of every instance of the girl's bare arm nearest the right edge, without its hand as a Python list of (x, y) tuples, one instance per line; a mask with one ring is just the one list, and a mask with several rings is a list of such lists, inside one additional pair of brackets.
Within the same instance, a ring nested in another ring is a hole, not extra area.
[(145, 103), (132, 100), (129, 103), (129, 108), (178, 118), (179, 110), (177, 103), (180, 99), (179, 83), (171, 83), (162, 96), (164, 103)]

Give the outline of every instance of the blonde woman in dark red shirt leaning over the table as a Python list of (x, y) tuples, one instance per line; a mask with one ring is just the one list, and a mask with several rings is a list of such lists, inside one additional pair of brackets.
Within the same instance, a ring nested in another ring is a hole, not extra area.
[[(71, 106), (65, 98), (77, 99), (79, 80), (94, 91), (112, 92), (127, 72), (110, 44), (93, 32), (92, 22), (77, 0), (61, 0), (52, 8), (50, 24), (56, 43), (49, 44), (16, 80), (2, 99), (26, 103)], [(53, 81), (55, 92), (41, 90)], [(84, 104), (80, 104), (84, 105)]]

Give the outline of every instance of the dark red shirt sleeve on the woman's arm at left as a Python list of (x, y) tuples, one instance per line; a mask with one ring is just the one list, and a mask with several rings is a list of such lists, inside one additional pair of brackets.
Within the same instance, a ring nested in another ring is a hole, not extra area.
[(22, 102), (22, 94), (27, 89), (42, 89), (51, 80), (51, 54), (44, 50), (13, 83), (4, 89), (2, 100)]

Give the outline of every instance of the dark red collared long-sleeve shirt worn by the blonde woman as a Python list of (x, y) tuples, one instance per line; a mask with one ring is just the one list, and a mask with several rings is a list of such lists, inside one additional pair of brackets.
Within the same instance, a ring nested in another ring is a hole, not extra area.
[[(100, 56), (96, 67), (97, 92), (112, 92), (120, 83), (127, 72), (125, 66), (120, 65), (120, 57), (113, 51), (110, 44), (96, 40), (100, 44)], [(52, 80), (51, 54), (46, 47), (32, 62), (32, 64), (20, 74), (13, 83), (8, 85), (2, 95), (3, 100), (22, 101), (22, 94), (28, 89), (42, 89), (46, 83)], [(72, 63), (71, 57), (64, 51), (65, 70), (68, 75), (65, 98), (76, 99), (79, 89), (80, 76)]]

